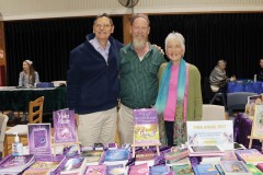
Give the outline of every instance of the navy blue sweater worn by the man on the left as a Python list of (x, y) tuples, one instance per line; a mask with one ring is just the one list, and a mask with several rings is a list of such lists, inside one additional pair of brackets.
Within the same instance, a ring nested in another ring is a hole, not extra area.
[(118, 52), (123, 44), (110, 37), (107, 62), (90, 44), (94, 34), (85, 37), (85, 43), (70, 51), (67, 74), (68, 107), (77, 114), (89, 114), (113, 108), (119, 93)]

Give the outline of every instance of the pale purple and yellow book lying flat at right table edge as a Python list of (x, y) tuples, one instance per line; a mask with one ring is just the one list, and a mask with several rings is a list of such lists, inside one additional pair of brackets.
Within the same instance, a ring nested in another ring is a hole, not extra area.
[(244, 163), (252, 163), (256, 165), (258, 163), (263, 162), (263, 154), (256, 149), (236, 150), (235, 153), (237, 158)]

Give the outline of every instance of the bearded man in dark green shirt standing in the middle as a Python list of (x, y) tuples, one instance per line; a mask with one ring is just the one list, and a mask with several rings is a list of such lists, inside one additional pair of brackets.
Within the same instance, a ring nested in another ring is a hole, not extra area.
[(135, 108), (150, 108), (158, 94), (158, 70), (164, 57), (150, 45), (150, 21), (146, 14), (130, 20), (133, 40), (119, 51), (121, 107), (118, 136), (121, 143), (133, 143)]

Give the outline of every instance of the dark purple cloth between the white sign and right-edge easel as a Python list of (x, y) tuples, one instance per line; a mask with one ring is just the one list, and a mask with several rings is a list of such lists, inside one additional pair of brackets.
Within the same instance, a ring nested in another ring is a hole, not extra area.
[[(251, 135), (252, 120), (244, 114), (239, 113), (233, 120), (233, 141), (249, 148), (248, 136)], [(259, 140), (253, 140), (252, 148), (261, 151), (262, 143)]]

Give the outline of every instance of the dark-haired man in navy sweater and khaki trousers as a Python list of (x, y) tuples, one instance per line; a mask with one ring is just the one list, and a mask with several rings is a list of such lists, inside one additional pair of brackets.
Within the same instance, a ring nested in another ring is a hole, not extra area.
[(118, 54), (123, 44), (114, 39), (112, 19), (95, 18), (93, 33), (70, 51), (67, 73), (68, 107), (76, 113), (82, 145), (115, 142), (118, 82)]

